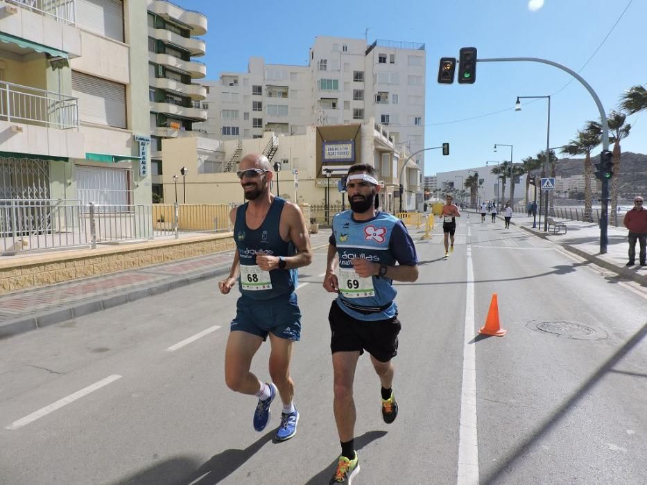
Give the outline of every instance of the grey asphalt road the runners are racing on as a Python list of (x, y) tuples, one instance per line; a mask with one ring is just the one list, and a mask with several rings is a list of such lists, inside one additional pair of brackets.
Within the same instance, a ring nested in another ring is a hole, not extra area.
[[(354, 484), (644, 484), (644, 289), (501, 221), (462, 218), (447, 259), (438, 233), (417, 249), (420, 279), (397, 285), (395, 423), (368, 356), (356, 372)], [(210, 280), (0, 341), (0, 483), (326, 484), (339, 444), (324, 270), (320, 249), (297, 290), (290, 441), (272, 440), (278, 402), (259, 434), (256, 399), (225, 386), (237, 292)], [(507, 333), (483, 337), (494, 293)], [(266, 344), (262, 379), (267, 358)]]

